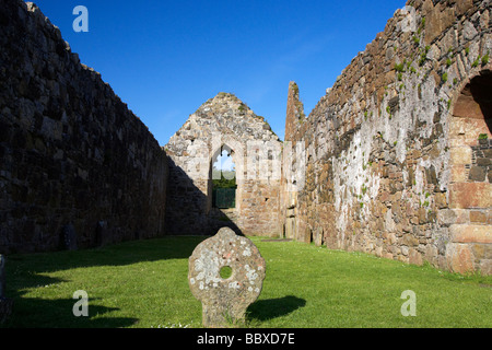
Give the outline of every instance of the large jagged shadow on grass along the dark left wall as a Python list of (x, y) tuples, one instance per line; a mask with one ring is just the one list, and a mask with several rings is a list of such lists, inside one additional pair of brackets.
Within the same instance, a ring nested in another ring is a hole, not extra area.
[[(47, 273), (97, 266), (127, 266), (166, 259), (188, 259), (195, 247), (208, 236), (163, 237), (125, 242), (92, 249), (17, 254), (7, 257), (5, 296), (14, 301), (13, 313), (0, 328), (118, 328), (129, 327), (138, 318), (104, 317), (118, 308), (93, 305), (89, 316), (75, 317), (73, 299), (33, 299), (26, 291), (70, 282)], [(131, 267), (129, 267), (131, 268)]]

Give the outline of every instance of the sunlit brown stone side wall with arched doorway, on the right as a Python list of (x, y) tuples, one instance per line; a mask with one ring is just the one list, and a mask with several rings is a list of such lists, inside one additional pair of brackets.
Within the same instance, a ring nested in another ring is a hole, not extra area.
[(409, 1), (307, 118), (291, 84), (285, 140), (307, 164), (282, 195), (288, 234), (491, 273), (490, 15), (489, 0)]

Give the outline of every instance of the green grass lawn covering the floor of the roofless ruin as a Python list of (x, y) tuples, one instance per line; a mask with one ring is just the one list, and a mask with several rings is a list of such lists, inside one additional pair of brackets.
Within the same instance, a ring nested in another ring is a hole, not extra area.
[[(8, 256), (3, 327), (201, 327), (188, 257), (204, 237), (165, 237), (79, 252)], [(461, 277), (297, 242), (253, 237), (267, 262), (247, 327), (492, 327), (492, 278)], [(78, 290), (89, 317), (75, 317)], [(403, 317), (412, 290), (417, 316)]]

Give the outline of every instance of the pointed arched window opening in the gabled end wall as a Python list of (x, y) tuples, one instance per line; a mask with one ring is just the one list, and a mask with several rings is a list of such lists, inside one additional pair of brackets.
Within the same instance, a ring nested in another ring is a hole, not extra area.
[(222, 148), (212, 160), (212, 207), (233, 209), (236, 207), (236, 170), (232, 150)]

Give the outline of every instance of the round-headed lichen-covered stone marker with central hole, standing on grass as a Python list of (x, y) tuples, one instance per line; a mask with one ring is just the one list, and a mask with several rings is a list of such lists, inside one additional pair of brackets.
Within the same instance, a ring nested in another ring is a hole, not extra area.
[[(203, 327), (223, 328), (244, 322), (246, 308), (261, 292), (265, 267), (255, 244), (230, 228), (200, 243), (189, 258), (188, 282), (202, 304)], [(221, 270), (227, 268), (231, 276), (221, 277)]]

